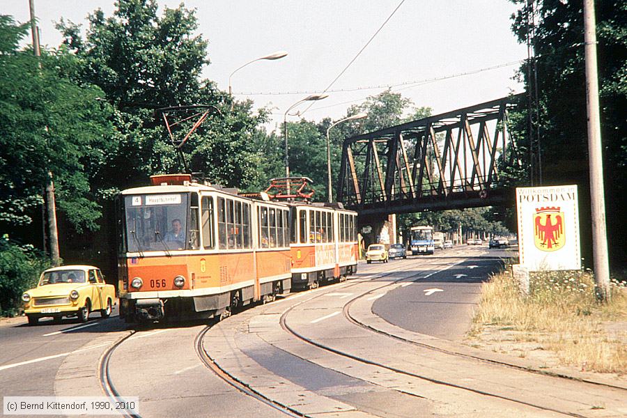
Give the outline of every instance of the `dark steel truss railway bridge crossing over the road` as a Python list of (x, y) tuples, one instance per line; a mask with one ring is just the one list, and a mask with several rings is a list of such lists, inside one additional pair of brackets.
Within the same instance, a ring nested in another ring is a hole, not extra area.
[(503, 186), (500, 167), (521, 164), (507, 126), (517, 98), (346, 139), (338, 201), (362, 220), (504, 203), (511, 190)]

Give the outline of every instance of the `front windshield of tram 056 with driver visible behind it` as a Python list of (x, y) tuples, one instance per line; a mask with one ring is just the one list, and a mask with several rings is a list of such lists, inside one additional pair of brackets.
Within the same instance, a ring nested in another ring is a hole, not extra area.
[(129, 252), (170, 251), (187, 247), (187, 194), (125, 196)]

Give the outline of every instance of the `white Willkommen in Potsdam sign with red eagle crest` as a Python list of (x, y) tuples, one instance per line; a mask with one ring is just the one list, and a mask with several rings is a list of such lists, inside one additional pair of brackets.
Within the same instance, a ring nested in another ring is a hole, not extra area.
[(516, 188), (520, 264), (580, 270), (577, 185)]

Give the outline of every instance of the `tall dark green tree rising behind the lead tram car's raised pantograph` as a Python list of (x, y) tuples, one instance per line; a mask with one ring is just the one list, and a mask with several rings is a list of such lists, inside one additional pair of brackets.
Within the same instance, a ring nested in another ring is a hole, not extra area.
[[(183, 5), (157, 14), (153, 0), (119, 0), (111, 17), (96, 10), (80, 26), (60, 22), (64, 44), (77, 56), (68, 72), (80, 82), (102, 88), (116, 106), (115, 148), (106, 155), (108, 170), (96, 179), (106, 194), (145, 184), (155, 173), (182, 171), (160, 115), (160, 107), (208, 104), (222, 111), (210, 117), (183, 146), (190, 171), (213, 183), (245, 188), (258, 180), (261, 155), (254, 148), (267, 112), (253, 115), (250, 102), (238, 102), (214, 82), (201, 79), (207, 41), (194, 36), (194, 11)], [(155, 117), (156, 116), (156, 117)], [(111, 179), (115, 179), (111, 181)]]

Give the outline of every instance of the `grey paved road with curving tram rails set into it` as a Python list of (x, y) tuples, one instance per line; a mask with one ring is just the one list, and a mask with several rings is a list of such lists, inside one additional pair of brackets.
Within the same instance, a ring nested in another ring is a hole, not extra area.
[(460, 246), (360, 264), (346, 282), (209, 326), (132, 329), (98, 314), (85, 325), (3, 321), (1, 394), (114, 390), (139, 396), (142, 417), (627, 415), (626, 389), (463, 353), (456, 341), (470, 325), (481, 281), (504, 256)]

